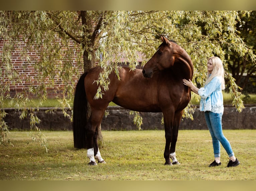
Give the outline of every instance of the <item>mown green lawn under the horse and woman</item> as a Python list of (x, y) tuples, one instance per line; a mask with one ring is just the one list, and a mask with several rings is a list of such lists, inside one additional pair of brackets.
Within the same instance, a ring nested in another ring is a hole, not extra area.
[(241, 164), (209, 168), (213, 150), (208, 130), (180, 130), (176, 156), (180, 165), (165, 166), (163, 130), (102, 131), (106, 164), (88, 166), (85, 149), (73, 147), (72, 131), (45, 131), (49, 152), (11, 131), (14, 147), (0, 147), (0, 180), (255, 180), (256, 130), (224, 130)]

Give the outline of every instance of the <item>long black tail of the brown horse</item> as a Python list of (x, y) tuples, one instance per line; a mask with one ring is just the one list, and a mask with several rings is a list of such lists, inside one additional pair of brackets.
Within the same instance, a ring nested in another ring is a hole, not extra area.
[(74, 147), (86, 148), (86, 134), (85, 126), (88, 122), (88, 106), (87, 97), (85, 92), (85, 76), (84, 73), (76, 86), (74, 104), (73, 104), (73, 135), (74, 135)]

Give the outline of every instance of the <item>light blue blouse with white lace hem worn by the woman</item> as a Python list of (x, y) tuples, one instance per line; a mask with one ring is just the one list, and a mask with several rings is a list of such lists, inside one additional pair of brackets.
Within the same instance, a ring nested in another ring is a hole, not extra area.
[(204, 88), (198, 90), (198, 94), (201, 96), (200, 111), (223, 113), (224, 106), (221, 81), (222, 77), (216, 76)]

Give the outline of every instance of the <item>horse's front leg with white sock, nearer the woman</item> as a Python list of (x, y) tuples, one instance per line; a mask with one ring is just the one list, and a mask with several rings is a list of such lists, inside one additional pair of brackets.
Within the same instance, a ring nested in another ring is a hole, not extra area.
[(178, 160), (176, 159), (176, 142), (178, 139), (178, 130), (179, 130), (179, 123), (182, 117), (182, 111), (175, 112), (174, 119), (173, 119), (173, 125), (172, 125), (172, 139), (171, 139), (171, 147), (170, 147), (170, 158), (172, 160), (172, 164), (180, 164)]

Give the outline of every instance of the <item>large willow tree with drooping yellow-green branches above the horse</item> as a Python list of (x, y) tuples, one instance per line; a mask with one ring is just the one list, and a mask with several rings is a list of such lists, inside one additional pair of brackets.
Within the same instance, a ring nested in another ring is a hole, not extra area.
[[(96, 83), (99, 84), (95, 96), (100, 99), (107, 91), (109, 84), (108, 74), (118, 72), (118, 62), (121, 58), (129, 67), (135, 68), (138, 64), (138, 52), (144, 57), (142, 64), (153, 55), (159, 46), (158, 34), (163, 34), (177, 42), (190, 55), (194, 63), (194, 81), (204, 85), (206, 78), (206, 62), (210, 56), (219, 56), (225, 70), (228, 71), (229, 60), (225, 55), (233, 52), (240, 57), (248, 54), (249, 62), (255, 64), (255, 55), (250, 47), (243, 42), (236, 28), (241, 17), (250, 15), (250, 12), (237, 11), (35, 11), (35, 12), (1, 12), (0, 34), (5, 46), (1, 54), (1, 69), (4, 68), (1, 78), (7, 77), (9, 83), (19, 81), (19, 76), (12, 65), (11, 54), (15, 46), (23, 40), (27, 46), (19, 50), (21, 56), (31, 62), (27, 51), (33, 45), (41, 57), (35, 63), (38, 70), (40, 87), (31, 87), (25, 92), (47, 92), (44, 85), (46, 78), (52, 79), (59, 75), (65, 84), (60, 102), (69, 106), (74, 92), (74, 76), (79, 78), (81, 68), (87, 71), (95, 66), (95, 61), (103, 68)], [(20, 39), (22, 36), (22, 39)], [(57, 38), (58, 37), (58, 38)], [(60, 43), (56, 42), (60, 39)], [(73, 42), (72, 48), (70, 43)], [(74, 49), (78, 55), (74, 55)], [(77, 59), (74, 67), (72, 59)], [(58, 72), (56, 72), (58, 71)], [(67, 83), (67, 82), (72, 83)], [(232, 103), (241, 111), (243, 102), (240, 98), (239, 87), (234, 78), (226, 73), (226, 82), (232, 95)], [(54, 82), (47, 86), (54, 86)], [(13, 102), (19, 102), (19, 107), (25, 116), (27, 109), (32, 113), (31, 129), (36, 128), (39, 119), (29, 106), (29, 94), (17, 94), (10, 97), (8, 83), (1, 83), (0, 101), (4, 95)], [(65, 95), (65, 96), (64, 96)], [(46, 99), (43, 94), (43, 99)], [(22, 106), (21, 106), (22, 105)], [(2, 107), (1, 107), (2, 108)], [(63, 109), (65, 112), (65, 109)], [(193, 118), (193, 110), (187, 107), (184, 116)], [(135, 122), (141, 124), (139, 113), (135, 113)], [(1, 142), (8, 132), (3, 118), (5, 112), (1, 109)], [(37, 132), (37, 131), (35, 131)]]

